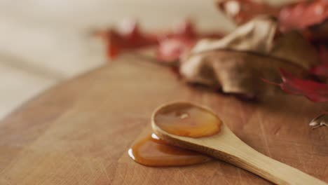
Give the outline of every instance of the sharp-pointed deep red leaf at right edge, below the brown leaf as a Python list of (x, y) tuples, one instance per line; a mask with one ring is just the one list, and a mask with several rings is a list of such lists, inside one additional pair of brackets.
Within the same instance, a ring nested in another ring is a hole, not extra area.
[(282, 83), (273, 83), (263, 79), (267, 83), (279, 85), (282, 90), (291, 95), (303, 95), (313, 102), (328, 101), (328, 85), (316, 81), (304, 80), (280, 69)]

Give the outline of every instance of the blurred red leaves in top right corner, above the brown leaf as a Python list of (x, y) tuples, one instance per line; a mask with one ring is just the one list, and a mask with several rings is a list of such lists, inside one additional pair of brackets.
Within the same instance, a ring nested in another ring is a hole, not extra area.
[(328, 39), (328, 1), (300, 1), (275, 8), (252, 0), (223, 0), (219, 8), (236, 23), (242, 24), (260, 14), (273, 15), (280, 21), (280, 31), (300, 29), (311, 41)]

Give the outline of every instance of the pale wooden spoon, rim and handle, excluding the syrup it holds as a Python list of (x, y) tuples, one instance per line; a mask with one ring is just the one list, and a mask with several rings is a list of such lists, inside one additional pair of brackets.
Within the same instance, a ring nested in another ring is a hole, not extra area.
[[(280, 163), (277, 160), (273, 160), (272, 158), (255, 151), (235, 136), (224, 123), (221, 124), (221, 131), (210, 137), (182, 137), (165, 132), (158, 124), (156, 124), (156, 115), (158, 112), (165, 111), (165, 109), (179, 107), (172, 106), (179, 104), (186, 104), (186, 102), (165, 104), (153, 112), (153, 115), (151, 116), (151, 126), (153, 132), (155, 132), (161, 139), (164, 139), (173, 145), (198, 151), (200, 153), (206, 153), (214, 158), (219, 158), (227, 163), (242, 167), (243, 169), (257, 174), (268, 181), (272, 181), (275, 184), (326, 184), (320, 179), (315, 179), (315, 177), (311, 177), (294, 167)], [(196, 104), (191, 105), (201, 109), (206, 109), (212, 113), (210, 109), (205, 107), (200, 107)]]

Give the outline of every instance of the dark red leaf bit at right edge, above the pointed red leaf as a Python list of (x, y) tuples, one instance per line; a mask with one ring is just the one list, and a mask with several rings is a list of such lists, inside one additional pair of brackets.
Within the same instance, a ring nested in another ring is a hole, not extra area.
[(328, 48), (327, 46), (321, 45), (319, 47), (320, 61), (321, 64), (310, 69), (310, 73), (317, 76), (328, 77)]

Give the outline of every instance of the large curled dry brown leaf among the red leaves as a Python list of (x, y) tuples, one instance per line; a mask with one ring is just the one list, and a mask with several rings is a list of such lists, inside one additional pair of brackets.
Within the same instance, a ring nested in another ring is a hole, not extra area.
[(199, 41), (182, 60), (180, 73), (186, 81), (220, 87), (224, 93), (247, 97), (272, 93), (272, 85), (261, 78), (279, 81), (279, 68), (303, 76), (318, 63), (315, 48), (301, 34), (277, 36), (277, 28), (275, 19), (262, 16), (222, 39)]

